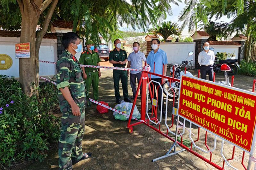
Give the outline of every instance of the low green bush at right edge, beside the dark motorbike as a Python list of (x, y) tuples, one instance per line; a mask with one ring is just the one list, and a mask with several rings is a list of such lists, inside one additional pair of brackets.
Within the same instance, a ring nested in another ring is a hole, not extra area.
[(245, 60), (243, 60), (239, 65), (241, 69), (238, 70), (238, 74), (253, 77), (256, 76), (256, 62), (246, 62)]

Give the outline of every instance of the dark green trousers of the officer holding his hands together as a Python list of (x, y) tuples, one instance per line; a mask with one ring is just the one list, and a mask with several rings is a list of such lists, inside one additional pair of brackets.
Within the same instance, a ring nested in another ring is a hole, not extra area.
[(116, 100), (120, 100), (120, 92), (119, 92), (119, 80), (121, 79), (123, 95), (125, 99), (129, 98), (128, 95), (128, 78), (127, 71), (125, 70), (113, 70), (113, 79), (114, 79), (114, 88), (115, 88), (115, 96)]

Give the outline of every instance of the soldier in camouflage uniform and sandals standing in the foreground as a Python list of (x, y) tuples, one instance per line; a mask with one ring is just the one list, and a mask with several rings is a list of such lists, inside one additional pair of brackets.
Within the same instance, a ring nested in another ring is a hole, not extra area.
[(72, 164), (91, 156), (91, 153), (82, 152), (81, 144), (85, 132), (85, 108), (90, 107), (90, 101), (81, 67), (74, 56), (82, 49), (78, 35), (66, 33), (62, 37), (62, 44), (66, 50), (59, 56), (56, 64), (62, 112), (59, 169), (70, 170)]

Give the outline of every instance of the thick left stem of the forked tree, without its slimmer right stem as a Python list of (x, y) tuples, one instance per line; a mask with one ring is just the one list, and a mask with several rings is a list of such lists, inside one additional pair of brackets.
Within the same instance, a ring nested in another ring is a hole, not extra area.
[[(20, 43), (30, 43), (30, 58), (19, 59), (19, 73), (22, 91), (31, 96), (35, 89), (36, 68), (35, 68), (35, 42), (36, 28), (40, 14), (35, 5), (18, 1), (21, 10), (21, 37)], [(36, 2), (35, 2), (36, 3)]]

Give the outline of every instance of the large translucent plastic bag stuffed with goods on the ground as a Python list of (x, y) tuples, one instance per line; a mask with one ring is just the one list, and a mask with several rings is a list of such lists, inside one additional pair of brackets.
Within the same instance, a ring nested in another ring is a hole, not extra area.
[[(132, 103), (128, 103), (128, 102), (124, 102), (123, 100), (121, 101), (120, 104), (117, 104), (115, 106), (115, 109), (123, 112), (124, 114), (130, 115), (131, 113), (131, 109), (132, 109)], [(127, 121), (129, 119), (128, 116), (126, 115), (121, 115), (118, 112), (114, 112), (113, 116), (115, 117), (115, 119), (117, 120), (121, 120), (121, 121)], [(136, 119), (140, 119), (140, 112), (137, 108), (137, 106), (135, 105), (134, 110), (133, 110), (133, 114), (132, 117), (136, 118)]]

